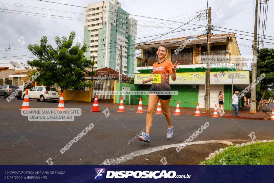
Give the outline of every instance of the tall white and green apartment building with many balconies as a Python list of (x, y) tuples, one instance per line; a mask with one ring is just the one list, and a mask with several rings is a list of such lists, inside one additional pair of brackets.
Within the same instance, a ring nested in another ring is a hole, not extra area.
[[(94, 70), (110, 67), (120, 72), (120, 45), (122, 45), (122, 74), (134, 74), (137, 21), (121, 8), (116, 0), (89, 4), (84, 9), (85, 56), (92, 59)], [(88, 20), (87, 20), (88, 19)]]

